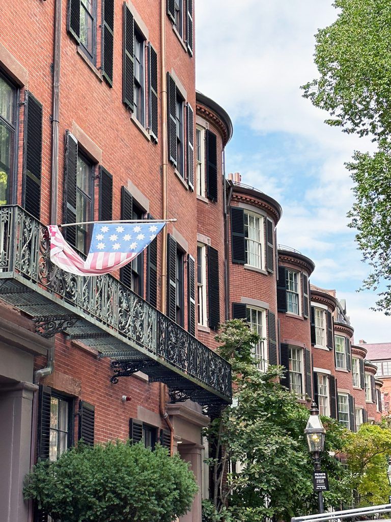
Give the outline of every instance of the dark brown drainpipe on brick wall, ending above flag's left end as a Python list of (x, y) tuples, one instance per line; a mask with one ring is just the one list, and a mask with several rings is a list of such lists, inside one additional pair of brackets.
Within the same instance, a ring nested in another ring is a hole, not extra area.
[(52, 178), (50, 199), (50, 221), (57, 223), (58, 212), (58, 126), (60, 105), (60, 56), (61, 56), (62, 0), (54, 6), (54, 50), (53, 50), (53, 113), (52, 113)]

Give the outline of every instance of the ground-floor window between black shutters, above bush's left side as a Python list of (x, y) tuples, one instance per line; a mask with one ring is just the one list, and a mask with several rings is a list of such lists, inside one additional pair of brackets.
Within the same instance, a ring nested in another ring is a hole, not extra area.
[(70, 446), (70, 410), (68, 400), (52, 394), (50, 401), (50, 460), (57, 460)]

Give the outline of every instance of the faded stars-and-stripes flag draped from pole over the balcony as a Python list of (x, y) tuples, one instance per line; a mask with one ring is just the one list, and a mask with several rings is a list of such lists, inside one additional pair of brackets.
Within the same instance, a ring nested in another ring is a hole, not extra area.
[(57, 225), (49, 225), (50, 259), (66, 272), (78, 276), (108, 274), (135, 259), (165, 224), (165, 221), (94, 223), (90, 251), (85, 260), (65, 241)]

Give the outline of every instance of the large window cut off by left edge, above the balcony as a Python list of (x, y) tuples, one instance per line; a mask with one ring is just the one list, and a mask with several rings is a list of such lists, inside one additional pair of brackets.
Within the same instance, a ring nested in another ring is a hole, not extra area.
[(0, 75), (0, 205), (10, 204), (10, 181), (16, 152), (16, 93)]

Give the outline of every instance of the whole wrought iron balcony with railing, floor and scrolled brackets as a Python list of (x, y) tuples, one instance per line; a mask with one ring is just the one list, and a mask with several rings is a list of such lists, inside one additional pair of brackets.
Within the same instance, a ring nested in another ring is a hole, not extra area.
[(174, 401), (231, 401), (230, 364), (112, 276), (53, 265), (46, 227), (18, 206), (0, 207), (0, 298), (33, 318), (43, 337), (64, 333), (112, 360), (113, 383), (139, 370)]

